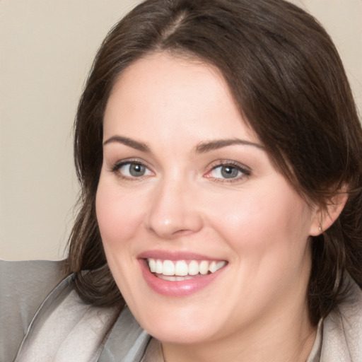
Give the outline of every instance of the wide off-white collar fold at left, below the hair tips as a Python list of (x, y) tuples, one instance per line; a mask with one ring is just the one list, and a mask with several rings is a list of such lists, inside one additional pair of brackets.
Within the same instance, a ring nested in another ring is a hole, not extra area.
[(118, 315), (83, 303), (68, 277), (42, 303), (15, 361), (98, 361)]

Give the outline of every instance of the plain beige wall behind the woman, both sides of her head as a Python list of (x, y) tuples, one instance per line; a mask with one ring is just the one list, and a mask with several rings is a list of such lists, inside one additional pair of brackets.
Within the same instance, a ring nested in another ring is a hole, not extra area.
[[(78, 186), (71, 127), (101, 40), (136, 0), (0, 0), (0, 257), (60, 259)], [(362, 110), (362, 0), (295, 0), (334, 39)]]

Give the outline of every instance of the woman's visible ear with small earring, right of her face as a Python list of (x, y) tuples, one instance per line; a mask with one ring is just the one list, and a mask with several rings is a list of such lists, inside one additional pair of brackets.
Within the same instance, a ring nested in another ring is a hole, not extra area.
[(313, 220), (310, 224), (310, 236), (317, 236), (327, 230), (337, 220), (348, 200), (346, 188), (340, 189), (324, 207), (315, 209)]

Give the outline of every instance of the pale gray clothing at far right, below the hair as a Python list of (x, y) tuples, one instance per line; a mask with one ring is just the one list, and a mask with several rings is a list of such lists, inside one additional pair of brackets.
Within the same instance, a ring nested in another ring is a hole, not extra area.
[(362, 361), (362, 290), (354, 281), (349, 297), (325, 319), (321, 361)]

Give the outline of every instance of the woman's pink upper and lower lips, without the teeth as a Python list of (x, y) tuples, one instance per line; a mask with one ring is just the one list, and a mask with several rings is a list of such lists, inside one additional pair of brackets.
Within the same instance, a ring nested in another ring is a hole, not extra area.
[(195, 276), (193, 279), (183, 281), (168, 281), (158, 278), (155, 274), (151, 273), (146, 262), (147, 258), (153, 259), (168, 259), (168, 260), (221, 260), (202, 255), (190, 254), (189, 252), (144, 252), (139, 255), (139, 262), (142, 274), (148, 286), (158, 294), (169, 297), (184, 297), (209, 286), (225, 269), (219, 269), (213, 274), (205, 276)]

